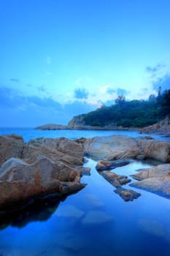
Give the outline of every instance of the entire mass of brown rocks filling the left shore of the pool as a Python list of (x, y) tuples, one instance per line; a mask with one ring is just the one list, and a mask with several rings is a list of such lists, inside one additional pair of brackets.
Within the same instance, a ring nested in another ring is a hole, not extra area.
[(5, 143), (1, 146), (1, 162), (4, 162), (0, 167), (1, 211), (33, 198), (53, 193), (69, 195), (85, 187), (80, 184), (83, 164), (80, 144), (66, 138), (37, 138), (24, 145), (23, 139), (15, 135), (1, 136), (1, 142)]

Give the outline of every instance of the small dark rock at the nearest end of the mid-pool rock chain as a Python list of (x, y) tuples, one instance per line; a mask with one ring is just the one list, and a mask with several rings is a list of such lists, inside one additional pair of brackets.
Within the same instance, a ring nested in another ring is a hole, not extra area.
[(134, 199), (137, 199), (141, 195), (140, 193), (135, 192), (134, 190), (123, 189), (122, 187), (115, 189), (115, 193), (120, 195), (120, 197), (122, 197), (123, 200), (125, 200), (125, 202), (133, 201)]

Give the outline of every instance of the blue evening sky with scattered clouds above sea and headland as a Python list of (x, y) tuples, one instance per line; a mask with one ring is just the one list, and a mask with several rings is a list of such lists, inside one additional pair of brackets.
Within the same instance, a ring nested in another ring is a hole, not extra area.
[(0, 127), (170, 89), (169, 0), (0, 0)]

